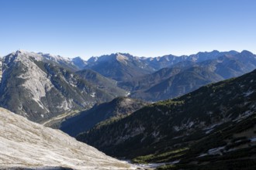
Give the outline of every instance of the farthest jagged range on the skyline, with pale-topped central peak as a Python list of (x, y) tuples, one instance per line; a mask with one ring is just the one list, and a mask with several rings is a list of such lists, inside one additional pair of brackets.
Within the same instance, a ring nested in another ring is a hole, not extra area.
[(182, 61), (202, 62), (207, 59), (216, 59), (223, 55), (235, 55), (236, 51), (230, 52), (205, 52), (190, 56), (159, 56), (137, 57), (128, 53), (115, 53), (111, 55), (92, 57), (84, 65), (86, 69), (95, 70), (103, 76), (113, 80), (130, 80), (133, 77), (143, 76), (154, 71), (170, 67)]

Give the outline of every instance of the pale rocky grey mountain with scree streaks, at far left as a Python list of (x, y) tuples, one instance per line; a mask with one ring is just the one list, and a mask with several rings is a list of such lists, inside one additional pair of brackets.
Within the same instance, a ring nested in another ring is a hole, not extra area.
[(0, 106), (42, 121), (116, 97), (71, 72), (65, 61), (23, 51), (3, 57)]

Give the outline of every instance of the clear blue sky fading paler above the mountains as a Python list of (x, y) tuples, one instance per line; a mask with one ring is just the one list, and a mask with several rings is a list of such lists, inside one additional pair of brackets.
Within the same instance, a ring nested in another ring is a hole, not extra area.
[(0, 0), (0, 56), (256, 53), (256, 0)]

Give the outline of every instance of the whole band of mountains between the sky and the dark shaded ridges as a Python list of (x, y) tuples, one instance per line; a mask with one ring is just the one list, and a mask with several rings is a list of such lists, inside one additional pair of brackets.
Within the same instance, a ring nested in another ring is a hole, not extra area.
[(18, 50), (2, 57), (0, 106), (44, 122), (116, 97), (166, 100), (256, 68), (248, 51), (137, 57), (113, 53), (87, 61)]

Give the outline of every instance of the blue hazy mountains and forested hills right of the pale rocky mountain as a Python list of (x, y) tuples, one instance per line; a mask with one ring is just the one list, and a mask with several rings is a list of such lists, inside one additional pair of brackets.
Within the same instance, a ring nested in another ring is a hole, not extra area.
[(129, 91), (130, 97), (147, 101), (178, 97), (255, 68), (256, 56), (246, 50), (151, 58), (113, 53), (92, 57), (84, 64), (85, 70), (116, 80), (117, 86)]

